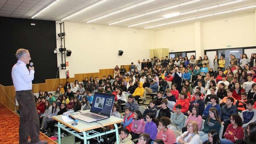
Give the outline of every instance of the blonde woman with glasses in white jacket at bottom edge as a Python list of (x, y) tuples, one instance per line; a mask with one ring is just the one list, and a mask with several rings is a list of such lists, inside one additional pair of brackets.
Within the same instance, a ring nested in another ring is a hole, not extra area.
[(187, 126), (187, 131), (181, 136), (176, 138), (176, 143), (178, 144), (199, 144), (200, 137), (198, 135), (198, 123), (195, 121), (189, 121)]

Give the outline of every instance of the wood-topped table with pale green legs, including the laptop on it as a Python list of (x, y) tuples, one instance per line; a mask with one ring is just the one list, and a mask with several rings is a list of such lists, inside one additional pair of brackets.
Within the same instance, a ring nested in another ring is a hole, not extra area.
[[(103, 135), (115, 132), (116, 141), (119, 144), (117, 123), (122, 122), (123, 119), (111, 116), (114, 98), (113, 94), (95, 93), (90, 110), (78, 111), (70, 115), (72, 119), (78, 120), (77, 123), (63, 120), (63, 115), (53, 116), (52, 118), (58, 121), (58, 143), (61, 144), (61, 129), (63, 129), (84, 140), (84, 144), (87, 144), (87, 140), (91, 138), (97, 138), (98, 142), (103, 142)], [(114, 125), (115, 129), (106, 132), (94, 130), (108, 125)]]

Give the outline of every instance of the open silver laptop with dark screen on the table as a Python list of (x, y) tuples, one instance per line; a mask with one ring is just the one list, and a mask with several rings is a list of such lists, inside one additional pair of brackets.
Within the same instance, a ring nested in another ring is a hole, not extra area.
[(114, 104), (115, 95), (96, 92), (90, 112), (72, 115), (72, 117), (85, 122), (95, 122), (110, 117)]

